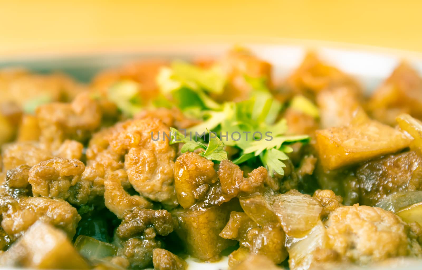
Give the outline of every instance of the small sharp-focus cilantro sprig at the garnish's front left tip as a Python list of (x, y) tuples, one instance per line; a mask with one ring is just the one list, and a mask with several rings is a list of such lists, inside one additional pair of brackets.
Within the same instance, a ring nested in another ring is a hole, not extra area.
[(227, 159), (227, 152), (224, 150), (224, 143), (215, 136), (215, 134), (209, 133), (209, 142), (208, 145), (205, 145), (202, 142), (195, 141), (194, 138), (190, 138), (188, 136), (185, 136), (185, 134), (182, 134), (180, 131), (178, 131), (176, 128), (170, 128), (171, 131), (171, 138), (170, 138), (170, 145), (176, 144), (176, 143), (184, 143), (182, 146), (180, 152), (193, 152), (197, 149), (203, 149), (205, 152), (201, 152), (199, 155), (203, 156), (204, 158), (208, 160), (214, 160), (214, 161), (222, 161), (224, 159)]

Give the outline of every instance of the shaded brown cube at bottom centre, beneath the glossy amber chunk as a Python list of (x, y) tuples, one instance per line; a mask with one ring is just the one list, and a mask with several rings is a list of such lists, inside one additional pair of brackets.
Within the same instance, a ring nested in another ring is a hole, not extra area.
[(235, 244), (234, 240), (219, 236), (227, 224), (230, 212), (238, 210), (237, 202), (228, 202), (221, 206), (173, 210), (171, 215), (178, 221), (175, 231), (184, 241), (190, 255), (203, 261), (214, 262), (221, 251)]

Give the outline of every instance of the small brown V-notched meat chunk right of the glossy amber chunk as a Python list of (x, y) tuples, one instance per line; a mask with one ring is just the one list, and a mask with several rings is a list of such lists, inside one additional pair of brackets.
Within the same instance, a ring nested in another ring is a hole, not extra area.
[(222, 191), (230, 196), (259, 191), (267, 179), (267, 169), (264, 167), (260, 166), (250, 172), (248, 177), (243, 177), (240, 167), (227, 159), (220, 162), (217, 174)]

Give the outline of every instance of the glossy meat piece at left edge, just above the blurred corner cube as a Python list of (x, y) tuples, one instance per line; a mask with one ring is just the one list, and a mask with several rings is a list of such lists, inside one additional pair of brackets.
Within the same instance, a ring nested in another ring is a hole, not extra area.
[(11, 196), (4, 196), (4, 191), (2, 193), (1, 226), (12, 239), (21, 236), (37, 220), (62, 229), (69, 238), (75, 235), (81, 216), (68, 202), (44, 197), (23, 197), (15, 200)]

